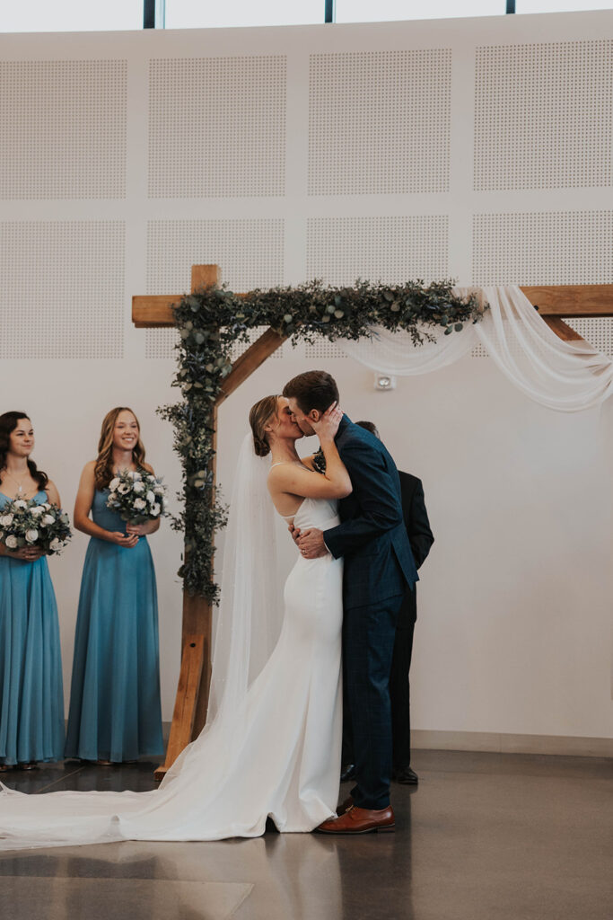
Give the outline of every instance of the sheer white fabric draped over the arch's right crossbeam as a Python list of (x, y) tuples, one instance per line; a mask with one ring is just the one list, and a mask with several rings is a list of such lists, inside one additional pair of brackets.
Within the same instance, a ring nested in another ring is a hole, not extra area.
[[(469, 288), (455, 288), (467, 295)], [(478, 323), (414, 347), (406, 332), (373, 328), (371, 339), (339, 339), (338, 347), (380, 374), (428, 374), (459, 361), (481, 343), (506, 377), (530, 399), (561, 412), (593, 408), (613, 392), (613, 362), (585, 342), (565, 342), (515, 285), (481, 288), (490, 309)]]

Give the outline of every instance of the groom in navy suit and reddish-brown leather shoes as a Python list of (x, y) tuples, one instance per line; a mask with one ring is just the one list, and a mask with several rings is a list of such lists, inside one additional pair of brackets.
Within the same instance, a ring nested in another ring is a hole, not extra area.
[[(325, 371), (298, 374), (285, 385), (292, 419), (304, 434), (338, 401)], [(356, 786), (347, 810), (318, 828), (325, 834), (392, 831), (390, 672), (396, 619), (406, 586), (418, 575), (403, 523), (400, 478), (384, 445), (343, 416), (335, 437), (353, 491), (341, 499), (341, 523), (294, 535), (305, 558), (344, 559), (343, 666), (354, 736)]]

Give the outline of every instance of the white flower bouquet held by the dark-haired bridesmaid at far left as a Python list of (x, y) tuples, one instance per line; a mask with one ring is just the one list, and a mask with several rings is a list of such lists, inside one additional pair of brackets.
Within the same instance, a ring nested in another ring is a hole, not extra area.
[(65, 512), (49, 501), (15, 499), (0, 511), (0, 543), (6, 549), (36, 546), (45, 553), (60, 553), (73, 535)]

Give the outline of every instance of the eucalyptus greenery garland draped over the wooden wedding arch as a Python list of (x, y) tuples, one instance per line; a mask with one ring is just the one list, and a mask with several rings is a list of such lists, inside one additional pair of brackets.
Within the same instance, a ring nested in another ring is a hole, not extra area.
[(158, 409), (172, 422), (175, 449), (181, 457), (184, 509), (173, 527), (185, 533), (186, 558), (179, 576), (189, 594), (212, 603), (219, 599), (213, 580), (215, 532), (227, 520), (227, 509), (217, 499), (210, 464), (215, 454), (212, 408), (224, 378), (232, 371), (231, 355), (237, 343), (248, 342), (256, 327), (272, 327), (292, 342), (361, 339), (372, 326), (403, 329), (414, 345), (433, 339), (432, 328), (445, 334), (478, 322), (484, 307), (476, 294), (460, 298), (453, 282), (406, 282), (397, 285), (358, 281), (353, 287), (324, 287), (309, 282), (299, 287), (255, 290), (237, 296), (226, 287), (208, 287), (186, 294), (173, 305), (180, 339), (178, 370), (173, 385), (183, 399)]

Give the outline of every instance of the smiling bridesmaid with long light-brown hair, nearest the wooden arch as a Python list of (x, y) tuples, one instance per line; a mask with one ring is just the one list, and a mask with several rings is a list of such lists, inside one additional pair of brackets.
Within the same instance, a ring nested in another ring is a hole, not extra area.
[[(141, 428), (129, 408), (102, 422), (97, 460), (85, 464), (74, 526), (88, 534), (74, 637), (66, 757), (98, 764), (164, 753), (157, 592), (147, 535), (159, 520), (127, 524), (107, 508), (120, 470), (146, 470)], [(89, 512), (92, 518), (89, 517)]]

